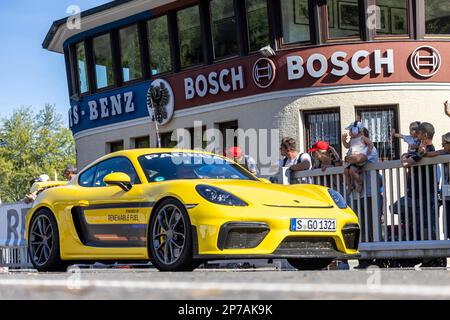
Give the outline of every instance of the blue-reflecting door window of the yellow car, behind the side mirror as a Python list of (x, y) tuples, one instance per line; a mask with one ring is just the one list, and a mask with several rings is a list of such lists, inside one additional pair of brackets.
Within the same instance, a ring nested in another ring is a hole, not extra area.
[(127, 158), (119, 157), (106, 160), (97, 166), (93, 187), (104, 187), (103, 179), (110, 173), (123, 172), (130, 176), (132, 184), (139, 184), (139, 178), (133, 165)]

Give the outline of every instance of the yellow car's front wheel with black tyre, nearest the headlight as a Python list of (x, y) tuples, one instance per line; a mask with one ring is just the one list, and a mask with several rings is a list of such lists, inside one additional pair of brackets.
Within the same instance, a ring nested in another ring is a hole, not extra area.
[(152, 213), (148, 247), (159, 271), (192, 271), (202, 261), (193, 259), (191, 222), (186, 208), (175, 199), (164, 200)]

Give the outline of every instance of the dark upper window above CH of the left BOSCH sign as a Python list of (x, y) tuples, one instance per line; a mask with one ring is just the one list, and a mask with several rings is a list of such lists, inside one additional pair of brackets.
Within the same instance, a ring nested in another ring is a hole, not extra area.
[(237, 55), (234, 0), (212, 0), (210, 3), (214, 59)]

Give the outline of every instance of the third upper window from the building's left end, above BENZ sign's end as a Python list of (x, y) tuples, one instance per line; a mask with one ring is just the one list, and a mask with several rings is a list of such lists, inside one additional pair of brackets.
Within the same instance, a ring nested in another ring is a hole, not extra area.
[(137, 25), (120, 29), (120, 60), (122, 62), (123, 81), (142, 78), (141, 51)]

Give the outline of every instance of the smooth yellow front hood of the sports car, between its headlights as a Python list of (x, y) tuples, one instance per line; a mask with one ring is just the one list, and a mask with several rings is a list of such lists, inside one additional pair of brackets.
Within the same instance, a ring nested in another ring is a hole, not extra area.
[(316, 185), (280, 185), (261, 181), (202, 180), (196, 183), (228, 191), (242, 200), (271, 207), (332, 208), (327, 188)]

